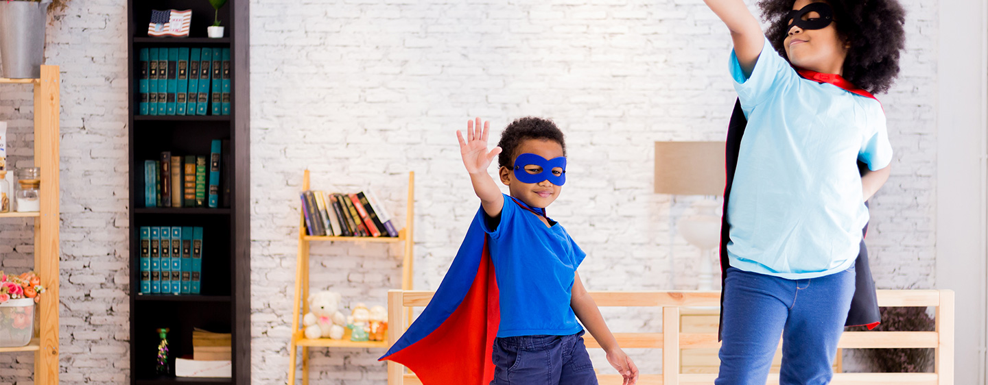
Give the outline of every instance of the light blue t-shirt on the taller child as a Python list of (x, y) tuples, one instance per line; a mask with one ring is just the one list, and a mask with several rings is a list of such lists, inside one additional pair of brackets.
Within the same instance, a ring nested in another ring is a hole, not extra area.
[(733, 51), (729, 65), (748, 118), (727, 204), (731, 266), (789, 279), (850, 268), (868, 220), (857, 161), (892, 160), (881, 105), (801, 78), (768, 39), (750, 77)]

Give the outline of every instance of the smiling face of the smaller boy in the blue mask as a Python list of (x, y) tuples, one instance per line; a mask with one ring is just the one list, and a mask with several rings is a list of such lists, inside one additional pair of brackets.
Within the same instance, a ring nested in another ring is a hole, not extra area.
[[(527, 153), (535, 154), (545, 159), (563, 156), (562, 145), (554, 140), (526, 139), (516, 148), (515, 153), (511, 154), (512, 163), (514, 163), (515, 159), (518, 159), (520, 154)], [(529, 174), (538, 174), (541, 171), (541, 167), (535, 165), (526, 167), (526, 172)], [(561, 172), (561, 170), (553, 171)], [(508, 167), (502, 167), (498, 173), (501, 177), (501, 183), (508, 187), (512, 196), (522, 199), (526, 204), (533, 207), (548, 206), (549, 203), (552, 203), (559, 196), (559, 192), (562, 191), (561, 186), (553, 185), (548, 180), (536, 184), (522, 183), (515, 178), (514, 170)]]

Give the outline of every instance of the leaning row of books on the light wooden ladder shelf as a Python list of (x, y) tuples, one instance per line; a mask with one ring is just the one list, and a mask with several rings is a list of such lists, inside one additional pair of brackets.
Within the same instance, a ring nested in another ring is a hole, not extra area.
[(337, 237), (397, 237), (391, 217), (371, 190), (301, 194), (305, 233)]

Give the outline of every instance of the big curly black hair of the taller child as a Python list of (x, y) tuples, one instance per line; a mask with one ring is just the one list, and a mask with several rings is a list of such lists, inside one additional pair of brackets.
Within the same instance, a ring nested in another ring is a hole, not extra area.
[[(769, 23), (765, 36), (776, 51), (788, 60), (785, 16), (794, 0), (760, 0), (762, 17)], [(827, 0), (834, 9), (837, 34), (847, 41), (844, 78), (867, 92), (888, 91), (899, 74), (899, 52), (906, 46), (906, 11), (897, 0)]]

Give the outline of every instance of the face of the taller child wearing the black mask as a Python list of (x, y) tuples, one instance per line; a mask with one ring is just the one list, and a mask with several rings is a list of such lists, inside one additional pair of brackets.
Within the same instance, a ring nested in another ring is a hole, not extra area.
[[(796, 0), (793, 10), (799, 10), (819, 0)], [(829, 3), (828, 3), (829, 4)], [(803, 20), (819, 18), (816, 12), (802, 16)], [(783, 42), (789, 62), (800, 68), (843, 75), (844, 59), (848, 56), (848, 44), (837, 34), (837, 23), (830, 23), (820, 30), (804, 30), (793, 27)]]

